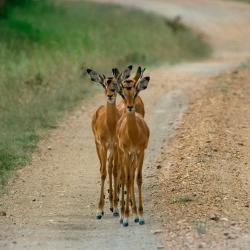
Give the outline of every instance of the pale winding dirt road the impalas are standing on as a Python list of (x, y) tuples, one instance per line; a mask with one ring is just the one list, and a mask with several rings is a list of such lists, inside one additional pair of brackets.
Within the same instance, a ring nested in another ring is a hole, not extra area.
[[(125, 4), (119, 0), (108, 2)], [(152, 135), (143, 177), (146, 224), (138, 226), (131, 222), (128, 228), (122, 228), (109, 213), (108, 203), (104, 218), (101, 221), (95, 219), (99, 166), (90, 119), (94, 110), (104, 102), (103, 96), (99, 95), (83, 102), (65, 122), (40, 141), (32, 164), (18, 171), (18, 177), (8, 186), (8, 193), (0, 198), (0, 211), (6, 212), (6, 216), (0, 216), (1, 249), (200, 247), (190, 235), (184, 243), (178, 241), (177, 235), (186, 232), (185, 228), (173, 226), (171, 232), (168, 227), (168, 222), (180, 216), (177, 212), (167, 212), (168, 208), (164, 209), (161, 202), (168, 192), (159, 183), (170, 180), (169, 171), (162, 169), (161, 164), (163, 159), (168, 161), (166, 151), (168, 145), (172, 145), (168, 144), (169, 139), (175, 134), (190, 100), (196, 101), (193, 97), (196, 93), (199, 96), (211, 77), (236, 67), (250, 56), (250, 6), (209, 0), (129, 0), (126, 5), (164, 16), (181, 15), (184, 22), (203, 32), (214, 48), (209, 61), (162, 66), (148, 72), (152, 82), (142, 94)], [(171, 170), (175, 173), (178, 167)], [(185, 209), (180, 211), (185, 213)], [(182, 225), (182, 222), (176, 221), (176, 224)], [(245, 238), (238, 239), (244, 241)], [(246, 237), (243, 249), (247, 249), (247, 240)], [(228, 245), (216, 245), (216, 242), (205, 246), (228, 249)]]

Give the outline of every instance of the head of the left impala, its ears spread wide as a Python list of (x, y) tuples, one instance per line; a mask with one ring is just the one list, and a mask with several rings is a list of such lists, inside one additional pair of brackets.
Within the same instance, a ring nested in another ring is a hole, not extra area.
[(92, 69), (87, 69), (87, 73), (93, 82), (99, 83), (104, 88), (104, 94), (107, 97), (107, 102), (114, 103), (117, 95), (117, 81), (124, 77), (129, 77), (132, 66), (128, 66), (125, 71), (120, 74), (117, 68), (112, 69), (112, 77), (101, 75)]

